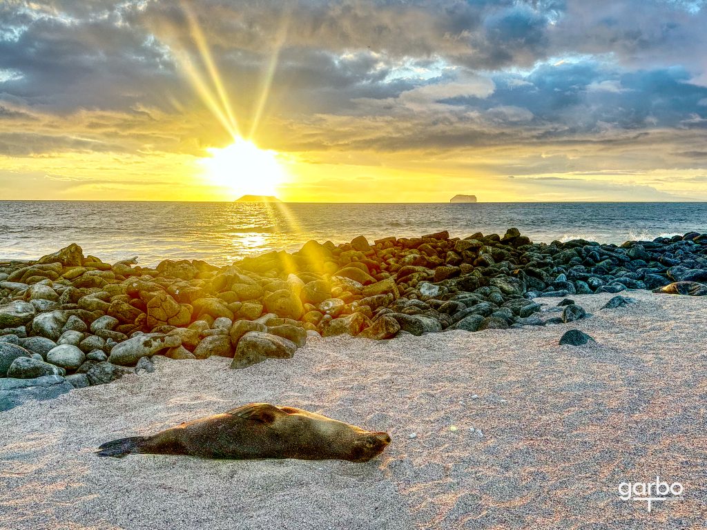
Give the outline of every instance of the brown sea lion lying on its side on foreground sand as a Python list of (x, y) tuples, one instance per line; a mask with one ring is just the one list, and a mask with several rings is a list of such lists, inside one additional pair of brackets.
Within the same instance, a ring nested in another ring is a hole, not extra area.
[(218, 459), (339, 459), (366, 462), (380, 454), (390, 436), (369, 432), (293, 407), (252, 403), (182, 423), (152, 436), (113, 440), (100, 457), (127, 454), (185, 454)]

